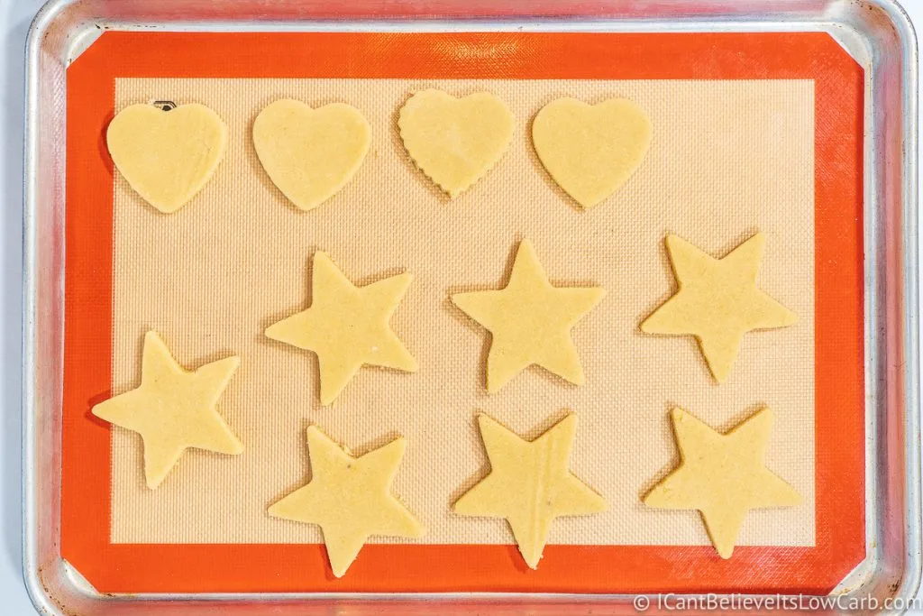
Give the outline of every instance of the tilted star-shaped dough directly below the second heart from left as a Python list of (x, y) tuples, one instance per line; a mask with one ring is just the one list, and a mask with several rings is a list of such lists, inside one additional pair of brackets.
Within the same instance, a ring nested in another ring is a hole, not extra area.
[(270, 325), (266, 335), (317, 354), (320, 404), (329, 405), (363, 365), (416, 371), (389, 325), (413, 279), (402, 273), (357, 287), (327, 254), (315, 253), (311, 307)]

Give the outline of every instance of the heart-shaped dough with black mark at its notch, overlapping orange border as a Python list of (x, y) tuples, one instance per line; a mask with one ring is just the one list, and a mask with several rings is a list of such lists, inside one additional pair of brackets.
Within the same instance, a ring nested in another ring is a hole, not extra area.
[(201, 104), (163, 111), (133, 104), (106, 130), (115, 168), (150, 205), (177, 211), (204, 187), (227, 150), (222, 118)]

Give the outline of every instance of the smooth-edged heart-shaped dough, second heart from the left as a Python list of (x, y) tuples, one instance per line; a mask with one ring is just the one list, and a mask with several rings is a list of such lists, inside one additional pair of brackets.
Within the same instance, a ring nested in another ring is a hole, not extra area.
[(355, 107), (312, 109), (283, 99), (259, 112), (253, 145), (259, 162), (300, 210), (313, 210), (346, 185), (366, 158), (371, 128)]

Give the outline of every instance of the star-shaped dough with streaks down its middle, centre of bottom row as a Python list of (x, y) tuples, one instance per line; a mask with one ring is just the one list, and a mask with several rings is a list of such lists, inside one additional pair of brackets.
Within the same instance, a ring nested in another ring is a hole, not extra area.
[(551, 523), (562, 515), (604, 512), (603, 498), (568, 470), (577, 429), (570, 413), (534, 441), (477, 417), (490, 474), (455, 502), (455, 513), (506, 518), (526, 564), (542, 558)]

